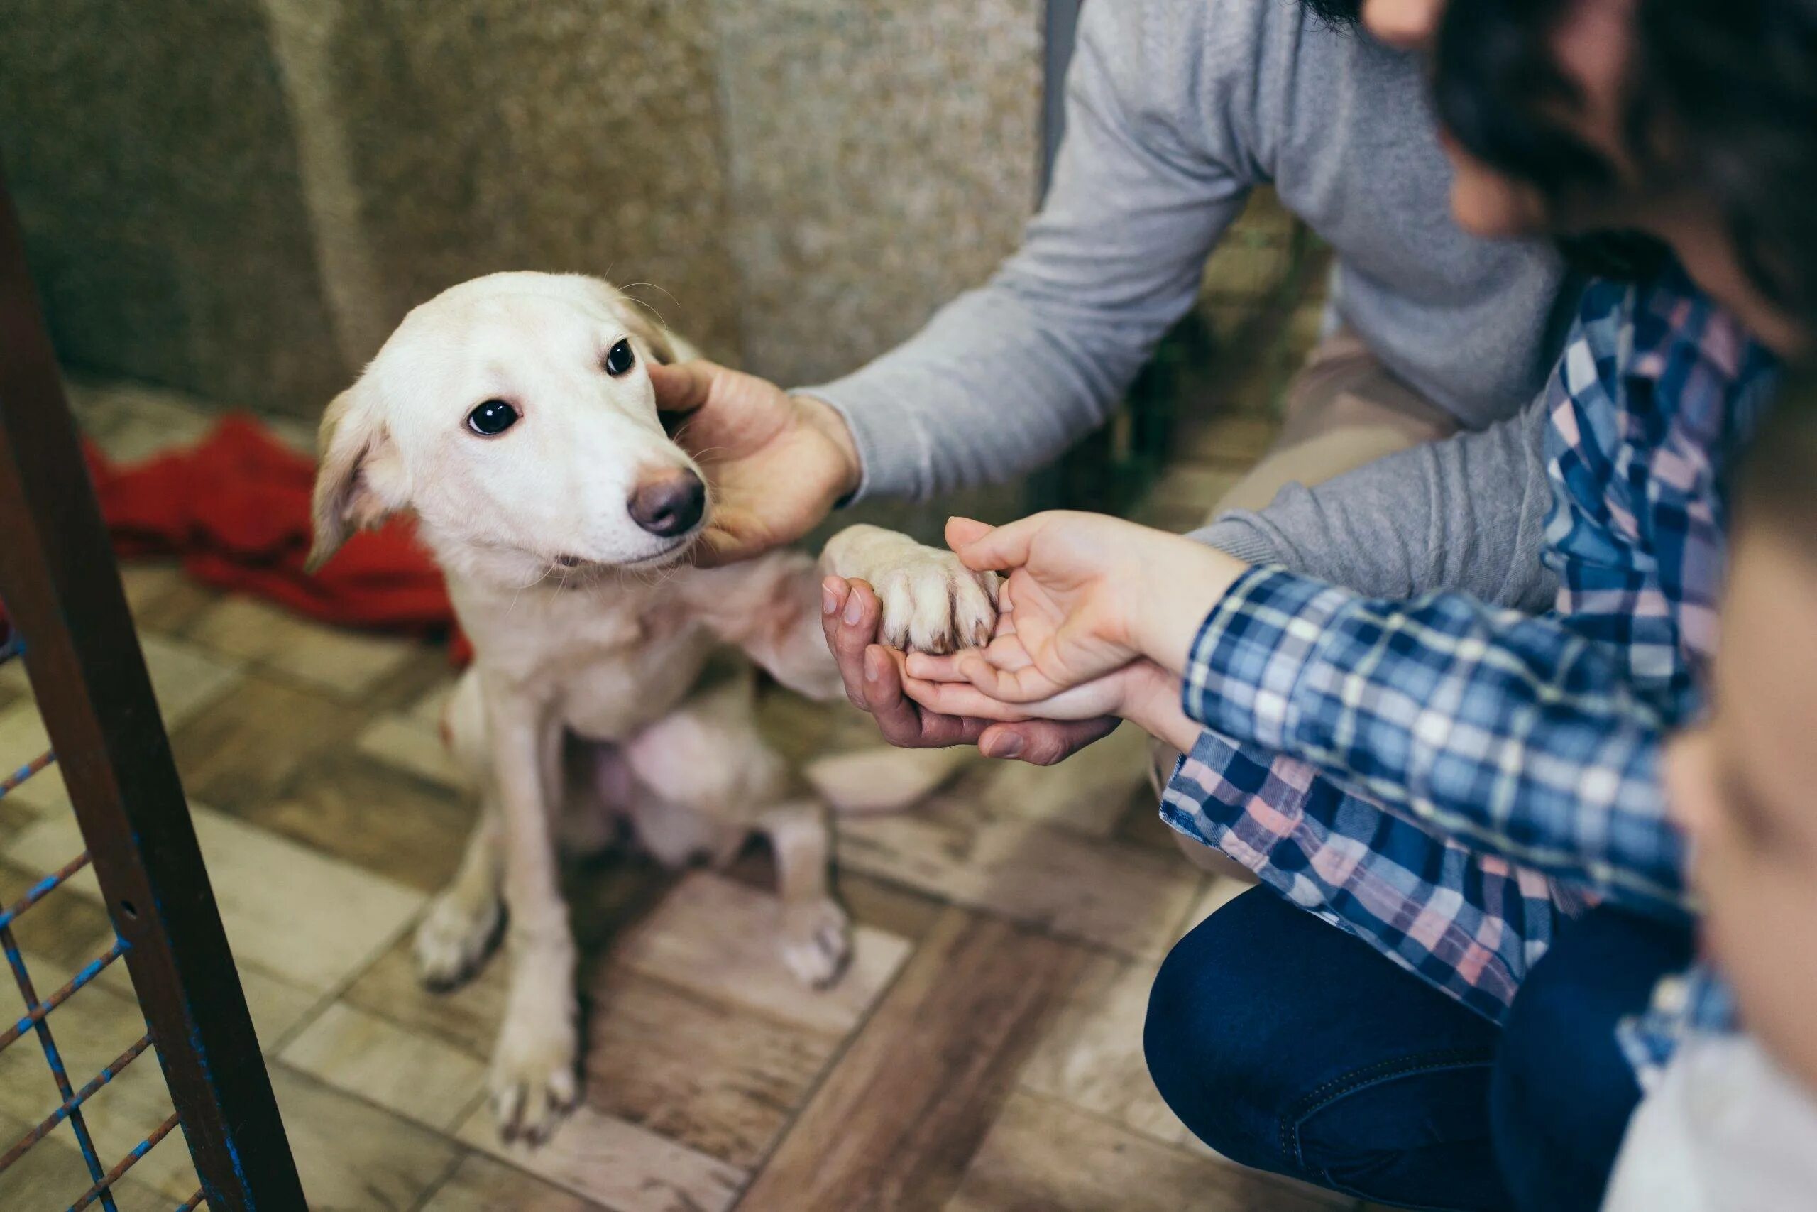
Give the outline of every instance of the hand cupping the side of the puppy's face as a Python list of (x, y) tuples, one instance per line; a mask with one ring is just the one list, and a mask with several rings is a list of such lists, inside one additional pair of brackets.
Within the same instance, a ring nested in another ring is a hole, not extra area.
[(707, 472), (703, 565), (792, 543), (858, 487), (858, 447), (830, 405), (712, 362), (652, 365), (656, 407)]

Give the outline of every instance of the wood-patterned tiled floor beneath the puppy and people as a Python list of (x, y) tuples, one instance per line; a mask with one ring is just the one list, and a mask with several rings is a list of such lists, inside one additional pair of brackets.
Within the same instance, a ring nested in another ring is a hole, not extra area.
[[(1286, 327), (1288, 354), (1306, 314)], [(1150, 520), (1196, 523), (1259, 454), (1285, 365), (1268, 347), (1226, 376)], [(78, 403), (122, 456), (204, 427), (144, 392)], [(1177, 858), (1130, 734), (1056, 770), (979, 763), (921, 810), (841, 821), (838, 889), (859, 929), (827, 992), (801, 988), (769, 945), (763, 854), (723, 874), (574, 867), (585, 1099), (541, 1150), (500, 1145), (482, 1083), (503, 965), (436, 996), (407, 950), (472, 818), (434, 732), (443, 652), (222, 598), (169, 567), (125, 578), (314, 1208), (1350, 1207), (1212, 1156), (1148, 1081), (1154, 969), (1236, 887)], [(772, 725), (794, 749), (863, 727), (787, 700)], [(0, 765), (40, 740), (20, 672), (0, 672)], [(0, 801), (0, 899), (76, 849), (55, 776)], [(104, 947), (93, 896), (78, 879), (27, 919), (42, 979)], [(76, 1067), (114, 1056), (136, 1023), (118, 970), (56, 1014)], [(24, 1048), (0, 1061), (5, 1143), (51, 1092)], [(93, 1125), (124, 1148), (165, 1108), (138, 1067)], [(0, 1176), (0, 1207), (64, 1207), (84, 1187), (65, 1125)], [(193, 1188), (182, 1150), (160, 1148), (122, 1207), (169, 1208)]]

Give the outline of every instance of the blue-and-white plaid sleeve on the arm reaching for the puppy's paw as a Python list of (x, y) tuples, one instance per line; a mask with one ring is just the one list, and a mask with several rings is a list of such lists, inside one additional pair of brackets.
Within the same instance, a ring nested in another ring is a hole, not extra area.
[(1194, 641), (1185, 709), (1441, 834), (1633, 907), (1679, 914), (1664, 721), (1604, 651), (1463, 594), (1372, 601), (1250, 569)]

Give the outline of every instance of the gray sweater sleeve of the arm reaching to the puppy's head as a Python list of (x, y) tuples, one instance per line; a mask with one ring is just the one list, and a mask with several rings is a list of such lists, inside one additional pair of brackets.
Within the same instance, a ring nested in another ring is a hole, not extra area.
[(859, 498), (928, 498), (1050, 462), (1103, 423), (1192, 307), (1248, 191), (1208, 158), (1203, 129), (1181, 129), (1203, 122), (1194, 9), (1087, 4), (1067, 138), (1021, 249), (907, 343), (803, 389), (850, 425)]

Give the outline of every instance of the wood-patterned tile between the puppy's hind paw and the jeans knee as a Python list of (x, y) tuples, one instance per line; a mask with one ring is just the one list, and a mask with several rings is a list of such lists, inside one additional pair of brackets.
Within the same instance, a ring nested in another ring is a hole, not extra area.
[(1128, 954), (1172, 943), (1199, 889), (1190, 865), (988, 810), (938, 796), (916, 812), (843, 820), (839, 865)]

